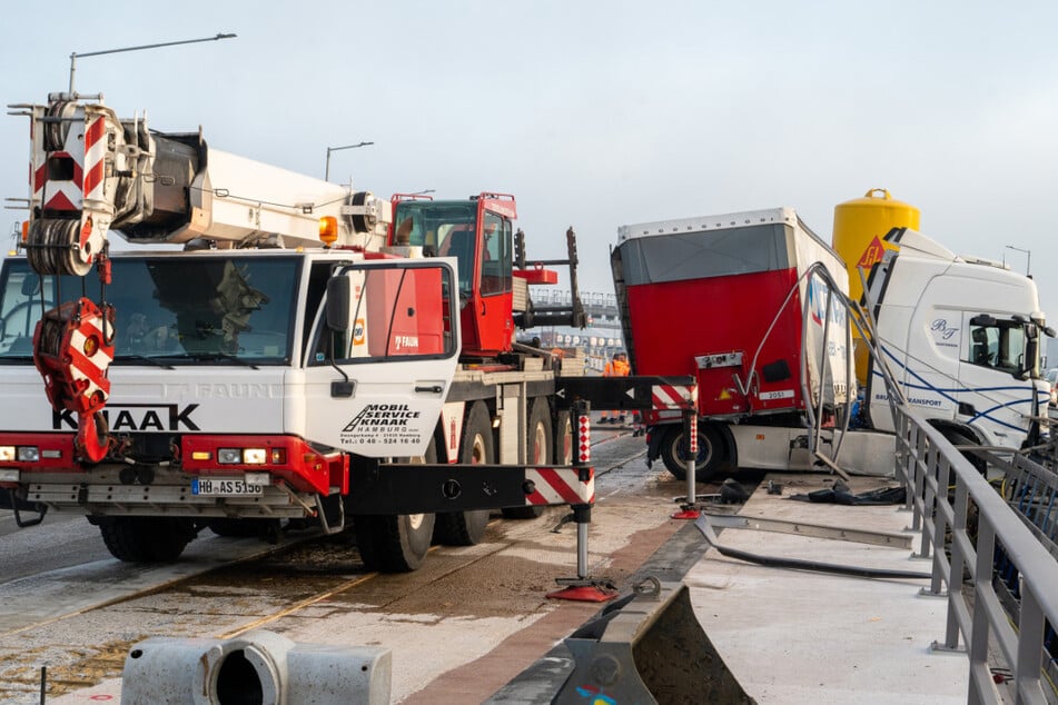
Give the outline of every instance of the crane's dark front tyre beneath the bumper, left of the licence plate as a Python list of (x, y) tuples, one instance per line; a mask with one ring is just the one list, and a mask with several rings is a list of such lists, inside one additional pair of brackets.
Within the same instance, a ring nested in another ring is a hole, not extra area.
[(126, 563), (170, 563), (195, 538), (191, 519), (176, 517), (107, 517), (99, 532), (110, 555)]

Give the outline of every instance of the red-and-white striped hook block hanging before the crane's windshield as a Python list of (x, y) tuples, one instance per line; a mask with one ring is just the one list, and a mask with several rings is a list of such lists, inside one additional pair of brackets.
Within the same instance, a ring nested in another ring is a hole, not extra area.
[(100, 411), (110, 395), (113, 307), (87, 298), (46, 311), (33, 332), (33, 363), (45, 378), (55, 410), (78, 415), (78, 449), (92, 463), (107, 455), (108, 431)]

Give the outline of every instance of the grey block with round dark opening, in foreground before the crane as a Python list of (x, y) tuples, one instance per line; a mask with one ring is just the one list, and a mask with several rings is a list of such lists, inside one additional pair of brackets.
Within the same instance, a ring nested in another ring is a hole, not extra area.
[(231, 639), (152, 637), (125, 659), (123, 705), (389, 703), (389, 649), (297, 644), (257, 629)]

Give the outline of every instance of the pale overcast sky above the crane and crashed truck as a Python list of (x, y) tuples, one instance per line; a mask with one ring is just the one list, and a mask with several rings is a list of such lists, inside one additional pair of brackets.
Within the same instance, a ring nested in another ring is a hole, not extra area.
[[(77, 89), (162, 131), (358, 189), (514, 193), (531, 257), (580, 238), (612, 291), (621, 225), (791, 206), (829, 239), (873, 187), (965, 255), (1025, 252), (1058, 319), (1058, 3), (8, 3), (0, 98)], [(0, 192), (27, 196), (28, 121), (0, 120)], [(6, 210), (3, 234), (24, 219)], [(3, 249), (7, 249), (4, 247)]]

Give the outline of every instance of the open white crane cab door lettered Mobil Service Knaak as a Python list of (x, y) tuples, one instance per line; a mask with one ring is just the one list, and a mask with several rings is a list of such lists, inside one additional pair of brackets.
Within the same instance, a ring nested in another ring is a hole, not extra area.
[(305, 435), (370, 457), (423, 455), (459, 352), (452, 260), (358, 262), (336, 278), (305, 368)]

